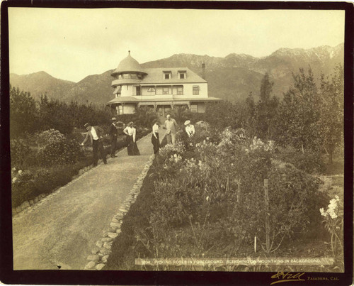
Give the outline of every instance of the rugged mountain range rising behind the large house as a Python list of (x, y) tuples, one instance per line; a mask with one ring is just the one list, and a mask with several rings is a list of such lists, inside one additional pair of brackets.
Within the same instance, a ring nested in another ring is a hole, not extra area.
[[(321, 46), (310, 49), (280, 48), (266, 57), (232, 53), (226, 57), (209, 55), (176, 54), (161, 60), (145, 62), (142, 67), (188, 67), (202, 75), (202, 62), (205, 63), (205, 77), (210, 97), (219, 97), (231, 101), (245, 99), (252, 92), (259, 94), (261, 79), (266, 72), (274, 82), (273, 94), (282, 97), (292, 84), (292, 73), (312, 68), (316, 78), (329, 75), (333, 68), (344, 60), (343, 43), (335, 47)], [(114, 63), (118, 65), (117, 63)], [(47, 72), (35, 72), (30, 75), (10, 74), (10, 84), (26, 92), (35, 99), (41, 94), (61, 101), (105, 104), (113, 99), (110, 87), (113, 70), (101, 75), (89, 75), (79, 82), (57, 79)]]

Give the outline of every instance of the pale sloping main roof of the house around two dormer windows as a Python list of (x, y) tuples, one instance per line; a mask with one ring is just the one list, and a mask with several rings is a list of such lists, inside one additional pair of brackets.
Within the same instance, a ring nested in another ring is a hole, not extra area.
[[(144, 76), (140, 84), (183, 84), (183, 83), (207, 83), (195, 72), (192, 72), (188, 67), (154, 67), (146, 68), (144, 71), (147, 75)], [(164, 79), (164, 72), (171, 71), (171, 78)], [(185, 79), (179, 79), (178, 71), (185, 71)]]

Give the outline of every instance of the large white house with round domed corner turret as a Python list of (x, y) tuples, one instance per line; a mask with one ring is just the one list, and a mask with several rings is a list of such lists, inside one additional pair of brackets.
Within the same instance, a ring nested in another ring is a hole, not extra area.
[(107, 105), (117, 114), (133, 114), (139, 106), (151, 106), (160, 116), (166, 116), (174, 106), (202, 113), (207, 102), (222, 101), (208, 97), (207, 81), (188, 67), (142, 68), (130, 51), (112, 77), (115, 99)]

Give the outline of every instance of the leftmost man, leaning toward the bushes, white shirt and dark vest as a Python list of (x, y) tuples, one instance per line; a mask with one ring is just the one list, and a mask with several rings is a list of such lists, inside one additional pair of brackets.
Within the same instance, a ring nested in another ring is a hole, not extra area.
[(103, 142), (102, 142), (103, 129), (99, 126), (91, 126), (90, 123), (86, 123), (84, 127), (88, 132), (86, 133), (86, 137), (84, 141), (81, 143), (81, 146), (84, 146), (84, 144), (90, 138), (92, 144), (92, 153), (93, 153), (93, 167), (97, 166), (98, 153), (100, 155), (100, 158), (103, 159), (103, 163), (107, 164), (107, 159), (105, 158), (105, 151), (103, 149)]

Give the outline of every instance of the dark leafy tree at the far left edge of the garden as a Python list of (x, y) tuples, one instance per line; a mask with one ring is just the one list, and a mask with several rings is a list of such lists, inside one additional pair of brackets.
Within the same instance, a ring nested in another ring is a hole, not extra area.
[(29, 92), (10, 86), (10, 136), (16, 138), (37, 131), (38, 109)]

